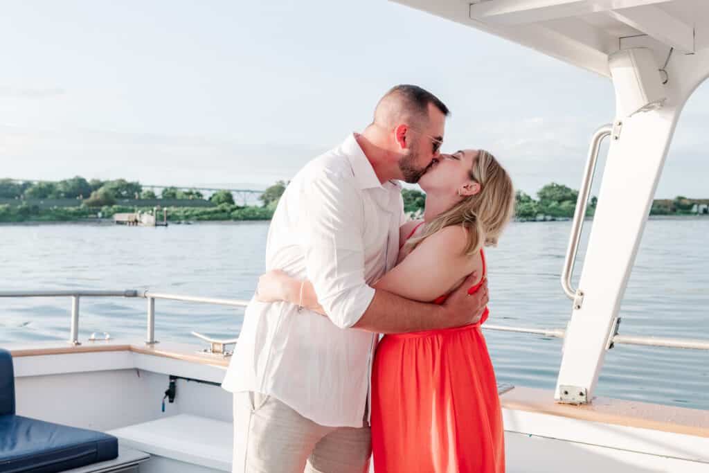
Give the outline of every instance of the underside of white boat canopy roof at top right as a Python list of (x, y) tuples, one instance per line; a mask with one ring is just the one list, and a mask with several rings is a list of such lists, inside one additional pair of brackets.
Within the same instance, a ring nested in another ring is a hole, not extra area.
[(610, 77), (608, 55), (709, 48), (708, 0), (393, 0)]

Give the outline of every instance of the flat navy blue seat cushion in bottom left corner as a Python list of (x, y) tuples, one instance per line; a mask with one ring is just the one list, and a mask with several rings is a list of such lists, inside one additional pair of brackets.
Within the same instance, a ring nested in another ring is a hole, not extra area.
[(118, 457), (118, 439), (94, 430), (0, 416), (0, 472), (54, 473)]

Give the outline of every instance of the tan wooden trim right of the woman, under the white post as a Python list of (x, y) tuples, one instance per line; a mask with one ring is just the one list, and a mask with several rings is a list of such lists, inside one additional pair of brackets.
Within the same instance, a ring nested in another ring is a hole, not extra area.
[(640, 401), (596, 397), (591, 404), (570, 406), (554, 401), (554, 391), (517, 387), (500, 396), (503, 408), (625, 425), (709, 438), (709, 411)]

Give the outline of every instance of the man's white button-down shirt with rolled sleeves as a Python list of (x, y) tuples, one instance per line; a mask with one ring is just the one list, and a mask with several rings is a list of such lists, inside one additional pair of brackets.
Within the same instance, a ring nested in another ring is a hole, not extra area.
[(320, 425), (361, 427), (377, 336), (352, 327), (396, 264), (401, 187), (354, 135), (301, 169), (269, 228), (266, 268), (309, 279), (328, 317), (252, 300), (222, 384), (274, 396)]

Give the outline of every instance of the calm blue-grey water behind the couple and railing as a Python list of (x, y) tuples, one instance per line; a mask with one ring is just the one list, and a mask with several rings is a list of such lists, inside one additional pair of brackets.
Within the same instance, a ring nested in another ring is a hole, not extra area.
[[(267, 230), (262, 222), (0, 226), (0, 290), (148, 287), (249, 299), (264, 269)], [(566, 326), (571, 303), (559, 273), (569, 230), (569, 222), (513, 223), (500, 247), (488, 250), (491, 323)], [(709, 340), (708, 233), (709, 218), (649, 221), (621, 306), (623, 335)], [(145, 304), (82, 299), (80, 338), (105, 331), (143, 340)], [(69, 336), (67, 298), (0, 299), (0, 308), (0, 344)], [(156, 314), (158, 340), (194, 343), (191, 330), (238, 334), (243, 309), (156, 301)], [(500, 382), (554, 388), (561, 340), (491, 331), (486, 338)], [(708, 352), (619, 345), (606, 357), (596, 394), (709, 409), (708, 387)]]

